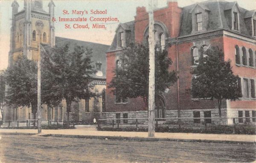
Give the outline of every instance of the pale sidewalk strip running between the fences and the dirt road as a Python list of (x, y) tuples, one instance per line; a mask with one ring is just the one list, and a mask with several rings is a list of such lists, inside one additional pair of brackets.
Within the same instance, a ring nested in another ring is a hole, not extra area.
[(131, 139), (146, 141), (199, 141), (199, 142), (226, 142), (226, 143), (256, 143), (256, 135), (246, 134), (194, 134), (194, 133), (160, 133), (155, 137), (148, 137), (147, 132), (109, 132), (97, 131), (94, 126), (78, 127), (77, 129), (44, 130), (37, 134), (37, 129), (0, 129), (3, 134), (35, 134), (35, 136), (58, 136), (80, 138), (108, 138)]

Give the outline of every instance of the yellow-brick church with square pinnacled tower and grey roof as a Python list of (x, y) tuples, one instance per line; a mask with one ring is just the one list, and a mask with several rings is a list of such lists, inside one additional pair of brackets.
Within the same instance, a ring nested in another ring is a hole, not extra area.
[[(55, 37), (54, 17), (55, 4), (49, 1), (49, 11), (44, 11), (42, 0), (24, 0), (24, 9), (19, 11), (19, 4), (16, 0), (12, 3), (12, 26), (9, 52), (9, 67), (15, 63), (17, 57), (25, 55), (28, 59), (38, 60), (38, 43), (49, 48), (49, 46), (68, 44), (71, 49), (75, 45), (92, 49), (92, 66), (97, 70), (93, 79), (93, 92), (102, 94), (100, 97), (78, 100), (72, 103), (71, 112), (76, 112), (76, 117), (71, 118), (82, 121), (93, 122), (93, 118), (102, 118), (105, 112), (105, 87), (106, 87), (106, 57), (105, 51), (109, 46), (98, 43), (91, 43), (63, 37)], [(7, 83), (8, 84), (8, 83)], [(7, 88), (6, 88), (7, 89)], [(42, 120), (62, 122), (67, 119), (66, 101), (56, 107), (42, 106)], [(76, 110), (76, 111), (75, 111)], [(3, 112), (4, 120), (29, 120), (33, 119), (30, 107), (5, 106)]]

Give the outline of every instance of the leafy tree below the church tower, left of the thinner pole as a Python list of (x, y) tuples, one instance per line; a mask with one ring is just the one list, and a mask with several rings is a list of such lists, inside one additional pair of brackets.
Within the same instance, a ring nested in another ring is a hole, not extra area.
[[(26, 57), (18, 57), (5, 73), (8, 84), (6, 104), (31, 106), (34, 120), (37, 112), (37, 64)], [(34, 123), (35, 126), (35, 123)]]

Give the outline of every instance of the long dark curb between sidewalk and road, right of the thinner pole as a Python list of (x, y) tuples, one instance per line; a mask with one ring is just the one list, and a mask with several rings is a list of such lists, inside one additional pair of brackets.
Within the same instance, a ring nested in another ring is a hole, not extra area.
[(196, 140), (196, 139), (169, 139), (156, 137), (122, 137), (122, 136), (92, 136), (92, 135), (66, 135), (66, 134), (44, 134), (43, 137), (68, 137), (105, 140), (134, 140), (134, 141), (177, 141), (177, 142), (198, 142), (198, 143), (233, 143), (233, 144), (255, 144), (256, 142), (230, 141), (230, 140)]

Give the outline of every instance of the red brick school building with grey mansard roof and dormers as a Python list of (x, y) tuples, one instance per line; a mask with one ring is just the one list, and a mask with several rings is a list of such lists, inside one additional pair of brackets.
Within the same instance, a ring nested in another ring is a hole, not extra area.
[[(204, 50), (218, 46), (224, 51), (224, 60), (231, 60), (233, 73), (240, 77), (243, 96), (236, 101), (224, 100), (221, 106), (225, 123), (233, 124), (231, 117), (244, 117), (236, 123), (256, 122), (256, 11), (239, 7), (236, 2), (209, 0), (180, 8), (177, 0), (154, 10), (155, 43), (168, 51), (173, 63), (170, 69), (179, 72), (179, 80), (163, 94), (158, 94), (156, 117), (218, 117), (216, 100), (197, 99), (191, 95), (194, 62)], [(128, 43), (148, 42), (148, 12), (137, 7), (134, 21), (120, 24), (107, 52), (107, 118), (148, 117), (140, 98), (115, 97), (108, 88), (118, 65), (120, 54)], [(201, 51), (201, 50), (202, 51)], [(204, 120), (191, 119), (190, 123)], [(127, 121), (124, 121), (127, 122)], [(212, 119), (212, 123), (216, 123)]]

